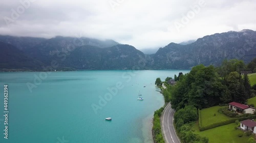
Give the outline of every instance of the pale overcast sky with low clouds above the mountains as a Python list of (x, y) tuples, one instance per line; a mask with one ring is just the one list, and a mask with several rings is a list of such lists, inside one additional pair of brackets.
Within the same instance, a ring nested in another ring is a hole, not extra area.
[(157, 48), (215, 33), (255, 31), (255, 14), (253, 0), (1, 0), (0, 35), (77, 35)]

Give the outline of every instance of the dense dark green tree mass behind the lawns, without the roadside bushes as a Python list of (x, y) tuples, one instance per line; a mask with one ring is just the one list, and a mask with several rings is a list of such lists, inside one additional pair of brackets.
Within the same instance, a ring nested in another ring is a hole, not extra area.
[(241, 60), (225, 60), (219, 68), (193, 67), (172, 88), (172, 107), (179, 110), (192, 105), (201, 109), (231, 101), (245, 103), (251, 97), (248, 75), (240, 75), (245, 69)]

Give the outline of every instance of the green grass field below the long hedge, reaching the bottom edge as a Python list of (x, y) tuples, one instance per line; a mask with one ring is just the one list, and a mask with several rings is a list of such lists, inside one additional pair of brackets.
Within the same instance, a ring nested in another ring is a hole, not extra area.
[[(238, 125), (232, 123), (200, 132), (198, 123), (195, 123), (192, 129), (200, 136), (208, 137), (209, 143), (246, 143), (250, 137), (253, 137), (253, 135), (247, 136), (239, 129), (234, 129), (235, 126)], [(239, 137), (239, 133), (242, 133), (243, 136)]]

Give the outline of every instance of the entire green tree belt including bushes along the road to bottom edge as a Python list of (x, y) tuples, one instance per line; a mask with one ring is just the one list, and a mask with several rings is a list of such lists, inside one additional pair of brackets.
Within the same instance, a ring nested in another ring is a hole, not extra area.
[(174, 86), (167, 85), (164, 98), (176, 109), (174, 121), (183, 142), (209, 142), (207, 137), (191, 131), (191, 123), (198, 119), (197, 108), (232, 101), (245, 103), (253, 96), (256, 85), (251, 87), (248, 75), (240, 74), (255, 67), (256, 60), (253, 61), (246, 65), (242, 60), (224, 60), (218, 68), (198, 65), (185, 75), (180, 73), (178, 77), (174, 76), (177, 83)]

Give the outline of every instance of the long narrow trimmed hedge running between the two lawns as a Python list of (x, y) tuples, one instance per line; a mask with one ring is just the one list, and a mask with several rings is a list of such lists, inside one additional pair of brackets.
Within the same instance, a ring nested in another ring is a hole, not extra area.
[(203, 127), (200, 127), (200, 125), (199, 125), (199, 130), (204, 131), (204, 130), (208, 130), (208, 129), (216, 128), (216, 127), (219, 127), (219, 126), (234, 123), (236, 120), (243, 121), (243, 120), (254, 119), (254, 118), (256, 118), (256, 115), (252, 115), (252, 116), (248, 116), (248, 117), (241, 117), (241, 118), (232, 118), (232, 119), (228, 119), (226, 121), (210, 124), (210, 125), (203, 126)]

